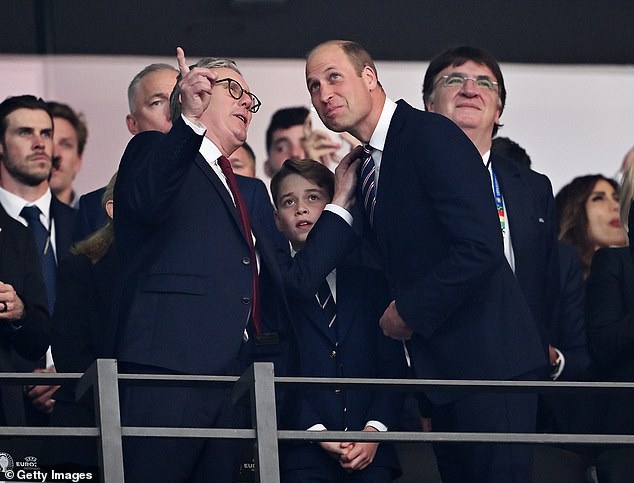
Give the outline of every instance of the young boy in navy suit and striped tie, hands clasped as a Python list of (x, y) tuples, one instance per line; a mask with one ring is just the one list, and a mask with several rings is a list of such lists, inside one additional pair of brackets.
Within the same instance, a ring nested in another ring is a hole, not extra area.
[[(275, 222), (293, 254), (330, 202), (333, 174), (317, 161), (289, 159), (271, 181)], [(378, 321), (390, 301), (380, 272), (340, 264), (309, 299), (289, 297), (296, 373), (306, 377), (404, 377), (402, 344)], [(402, 396), (389, 391), (301, 389), (288, 395), (281, 425), (292, 429), (395, 429)], [(401, 474), (393, 445), (372, 442), (293, 442), (281, 445), (282, 481), (387, 482)]]

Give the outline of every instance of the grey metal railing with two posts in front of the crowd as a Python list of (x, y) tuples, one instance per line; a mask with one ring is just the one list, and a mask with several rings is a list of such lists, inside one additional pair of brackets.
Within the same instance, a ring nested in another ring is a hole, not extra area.
[[(96, 427), (0, 427), (0, 436), (92, 437), (98, 440), (101, 479), (105, 483), (122, 482), (123, 437), (187, 437), (230, 438), (255, 441), (256, 478), (259, 482), (280, 481), (278, 442), (303, 441), (392, 441), (392, 442), (495, 442), (525, 444), (610, 444), (634, 445), (634, 435), (544, 434), (544, 433), (458, 433), (458, 432), (363, 432), (363, 431), (299, 431), (278, 430), (276, 419), (276, 387), (350, 386), (366, 390), (422, 392), (487, 391), (487, 392), (583, 392), (606, 393), (634, 390), (634, 383), (625, 382), (550, 382), (550, 381), (464, 381), (420, 379), (353, 379), (275, 377), (273, 364), (255, 363), (242, 376), (183, 376), (156, 374), (119, 374), (117, 361), (98, 359), (84, 373), (0, 373), (0, 384), (33, 385), (64, 384), (79, 381), (75, 397), (80, 400), (92, 390)], [(121, 426), (119, 383), (196, 386), (215, 384), (233, 386), (234, 403), (250, 398), (253, 429), (232, 428), (165, 428)]]

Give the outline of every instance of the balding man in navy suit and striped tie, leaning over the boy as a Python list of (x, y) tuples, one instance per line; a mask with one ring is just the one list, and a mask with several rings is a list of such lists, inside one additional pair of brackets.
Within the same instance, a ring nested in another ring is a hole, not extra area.
[[(328, 128), (369, 144), (357, 205), (365, 207), (365, 231), (392, 289), (380, 325), (408, 340), (416, 376), (537, 377), (544, 348), (504, 257), (490, 178), (471, 141), (444, 116), (389, 100), (371, 57), (354, 42), (313, 49), (306, 84)], [(427, 396), (439, 431), (535, 428), (535, 394)], [(526, 445), (451, 443), (434, 450), (445, 483), (531, 481)]]

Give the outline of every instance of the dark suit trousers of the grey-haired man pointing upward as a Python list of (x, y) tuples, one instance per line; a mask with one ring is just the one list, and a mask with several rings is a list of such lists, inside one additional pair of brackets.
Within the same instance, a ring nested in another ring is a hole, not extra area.
[[(169, 374), (172, 371), (121, 363), (121, 372)], [(122, 385), (124, 426), (244, 428), (245, 408), (235, 408), (231, 389)], [(241, 441), (202, 438), (127, 437), (123, 441), (126, 481), (237, 481)]]

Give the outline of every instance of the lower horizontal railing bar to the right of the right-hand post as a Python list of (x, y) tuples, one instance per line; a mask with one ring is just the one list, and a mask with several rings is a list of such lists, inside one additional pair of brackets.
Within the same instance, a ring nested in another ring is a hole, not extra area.
[(634, 444), (634, 435), (550, 434), (550, 433), (442, 433), (418, 431), (291, 431), (277, 432), (280, 440), (300, 441), (420, 441), (492, 442), (538, 444)]

